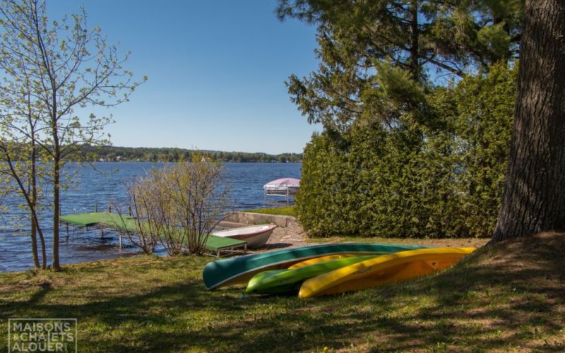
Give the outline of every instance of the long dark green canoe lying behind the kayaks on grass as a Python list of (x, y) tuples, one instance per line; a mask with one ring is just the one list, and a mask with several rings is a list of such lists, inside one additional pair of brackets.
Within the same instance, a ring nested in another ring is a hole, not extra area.
[(290, 265), (318, 258), (320, 256), (355, 253), (359, 256), (371, 254), (396, 253), (398, 251), (422, 249), (426, 246), (376, 244), (376, 243), (345, 243), (345, 244), (322, 244), (304, 246), (256, 255), (238, 256), (223, 260), (212, 261), (206, 264), (202, 277), (208, 289), (246, 283), (256, 275), (265, 270), (286, 269)]

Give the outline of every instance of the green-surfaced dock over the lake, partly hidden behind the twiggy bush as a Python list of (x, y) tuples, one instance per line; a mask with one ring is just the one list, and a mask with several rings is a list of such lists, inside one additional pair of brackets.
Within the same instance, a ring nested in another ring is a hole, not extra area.
[[(59, 221), (66, 225), (73, 227), (86, 228), (88, 227), (102, 227), (116, 229), (119, 234), (119, 244), (121, 247), (121, 234), (124, 232), (136, 233), (138, 231), (138, 223), (133, 217), (128, 215), (117, 215), (116, 213), (94, 212), (94, 213), (80, 213), (77, 215), (61, 215)], [(215, 253), (215, 256), (220, 257), (221, 251), (227, 249), (244, 248), (247, 251), (247, 242), (244, 240), (231, 239), (225, 237), (216, 237), (209, 234), (206, 239), (206, 250)]]

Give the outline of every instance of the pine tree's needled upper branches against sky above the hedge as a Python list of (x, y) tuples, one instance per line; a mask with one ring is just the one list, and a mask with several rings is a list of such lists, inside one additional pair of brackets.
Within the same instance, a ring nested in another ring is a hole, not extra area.
[(367, 115), (389, 126), (420, 119), (438, 73), (463, 78), (516, 59), (521, 12), (517, 0), (279, 0), (279, 18), (318, 29), (319, 68), (290, 76), (291, 100), (333, 133)]

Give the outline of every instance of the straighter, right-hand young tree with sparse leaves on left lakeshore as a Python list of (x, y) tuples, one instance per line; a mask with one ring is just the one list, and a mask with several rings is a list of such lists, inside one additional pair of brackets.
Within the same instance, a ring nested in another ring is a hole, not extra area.
[[(81, 118), (76, 111), (126, 102), (140, 82), (122, 67), (129, 53), (120, 56), (100, 28), (88, 28), (83, 8), (70, 19), (65, 17), (57, 22), (47, 17), (44, 1), (6, 0), (0, 7), (0, 16), (0, 55), (6, 63), (5, 77), (16, 86), (29, 80), (32, 101), (41, 107), (37, 116), (42, 133), (36, 142), (44, 152), (44, 162), (50, 165), (52, 267), (57, 270), (61, 168), (79, 145), (107, 144), (103, 128), (112, 121), (111, 116), (94, 114)], [(13, 94), (20, 93), (16, 90)]]

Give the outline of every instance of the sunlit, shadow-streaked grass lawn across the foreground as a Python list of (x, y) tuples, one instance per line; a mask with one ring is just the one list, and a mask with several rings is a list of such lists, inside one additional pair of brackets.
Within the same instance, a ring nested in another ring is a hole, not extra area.
[(0, 274), (0, 352), (10, 317), (78, 318), (80, 352), (563, 350), (564, 253), (565, 235), (542, 234), (432, 277), (314, 299), (209, 292), (209, 257)]

